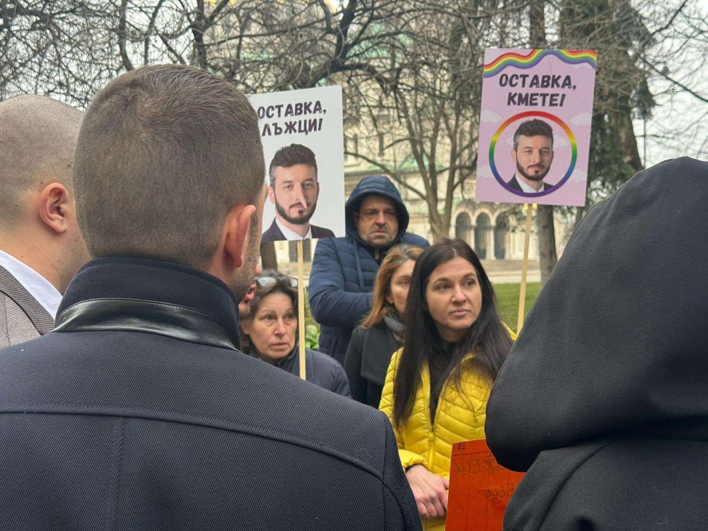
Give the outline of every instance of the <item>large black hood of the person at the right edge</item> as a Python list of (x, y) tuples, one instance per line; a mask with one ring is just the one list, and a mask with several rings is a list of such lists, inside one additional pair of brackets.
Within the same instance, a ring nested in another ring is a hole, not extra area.
[(500, 464), (619, 431), (708, 440), (707, 203), (708, 163), (683, 157), (588, 211), (491, 392)]

